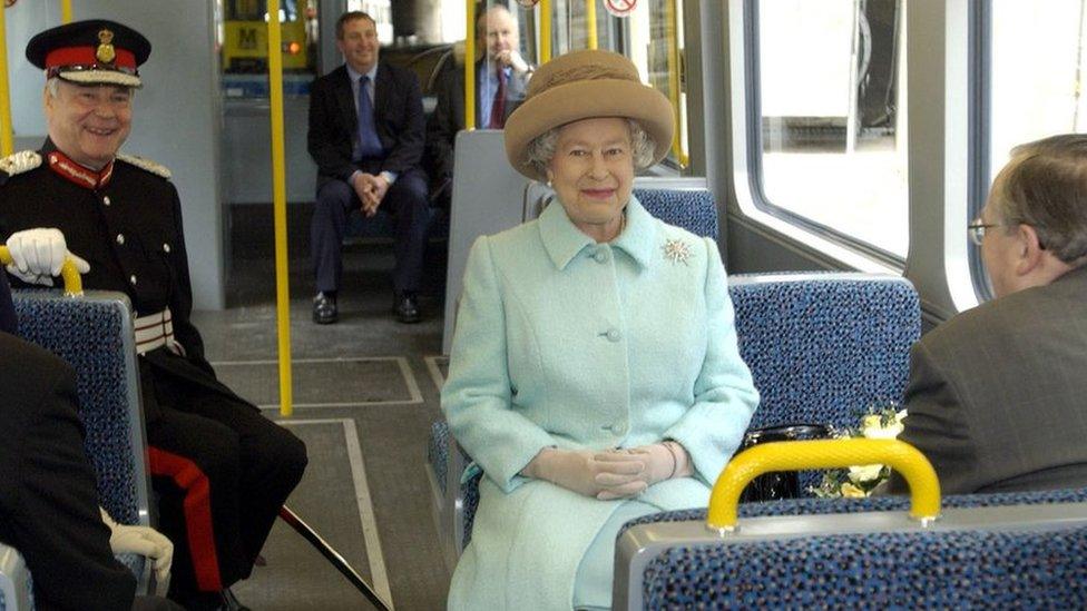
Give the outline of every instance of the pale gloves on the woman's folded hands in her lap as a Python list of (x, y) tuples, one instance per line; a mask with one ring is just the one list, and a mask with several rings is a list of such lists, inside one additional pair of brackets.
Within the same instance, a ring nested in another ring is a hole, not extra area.
[(644, 492), (644, 462), (631, 454), (545, 447), (521, 470), (521, 474), (609, 501)]

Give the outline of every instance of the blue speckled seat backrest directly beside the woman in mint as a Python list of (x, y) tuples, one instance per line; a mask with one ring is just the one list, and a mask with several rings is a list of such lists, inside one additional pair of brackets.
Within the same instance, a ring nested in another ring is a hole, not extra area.
[(728, 278), (740, 354), (760, 404), (751, 426), (855, 426), (870, 406), (900, 403), (921, 335), (913, 285), (853, 273)]

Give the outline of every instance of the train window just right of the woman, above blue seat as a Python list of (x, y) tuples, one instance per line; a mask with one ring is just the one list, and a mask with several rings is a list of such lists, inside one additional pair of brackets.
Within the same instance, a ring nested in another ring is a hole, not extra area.
[(904, 260), (903, 2), (750, 0), (747, 14), (757, 38), (747, 46), (756, 50), (748, 141), (757, 205)]

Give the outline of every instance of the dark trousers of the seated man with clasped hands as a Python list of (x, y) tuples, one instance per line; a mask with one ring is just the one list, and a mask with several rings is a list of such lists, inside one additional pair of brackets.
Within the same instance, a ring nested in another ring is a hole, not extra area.
[[(359, 168), (375, 174), (380, 169), (380, 161), (362, 161)], [(347, 227), (347, 214), (361, 207), (362, 201), (355, 190), (343, 180), (329, 180), (317, 189), (317, 204), (310, 223), (310, 250), (317, 290), (340, 289), (343, 276), (341, 246)], [(393, 289), (419, 290), (427, 248), (427, 225), (430, 221), (425, 174), (420, 169), (401, 173), (389, 187), (379, 213), (381, 210), (391, 214), (395, 221)]]

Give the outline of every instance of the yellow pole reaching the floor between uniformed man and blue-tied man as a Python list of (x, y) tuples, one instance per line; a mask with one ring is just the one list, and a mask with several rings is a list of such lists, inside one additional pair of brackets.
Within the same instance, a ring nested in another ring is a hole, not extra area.
[(280, 415), (294, 412), (291, 391), (291, 292), (287, 284), (287, 180), (283, 144), (280, 0), (268, 0), (268, 97), (272, 101), (272, 206), (275, 209), (275, 318), (280, 331)]

